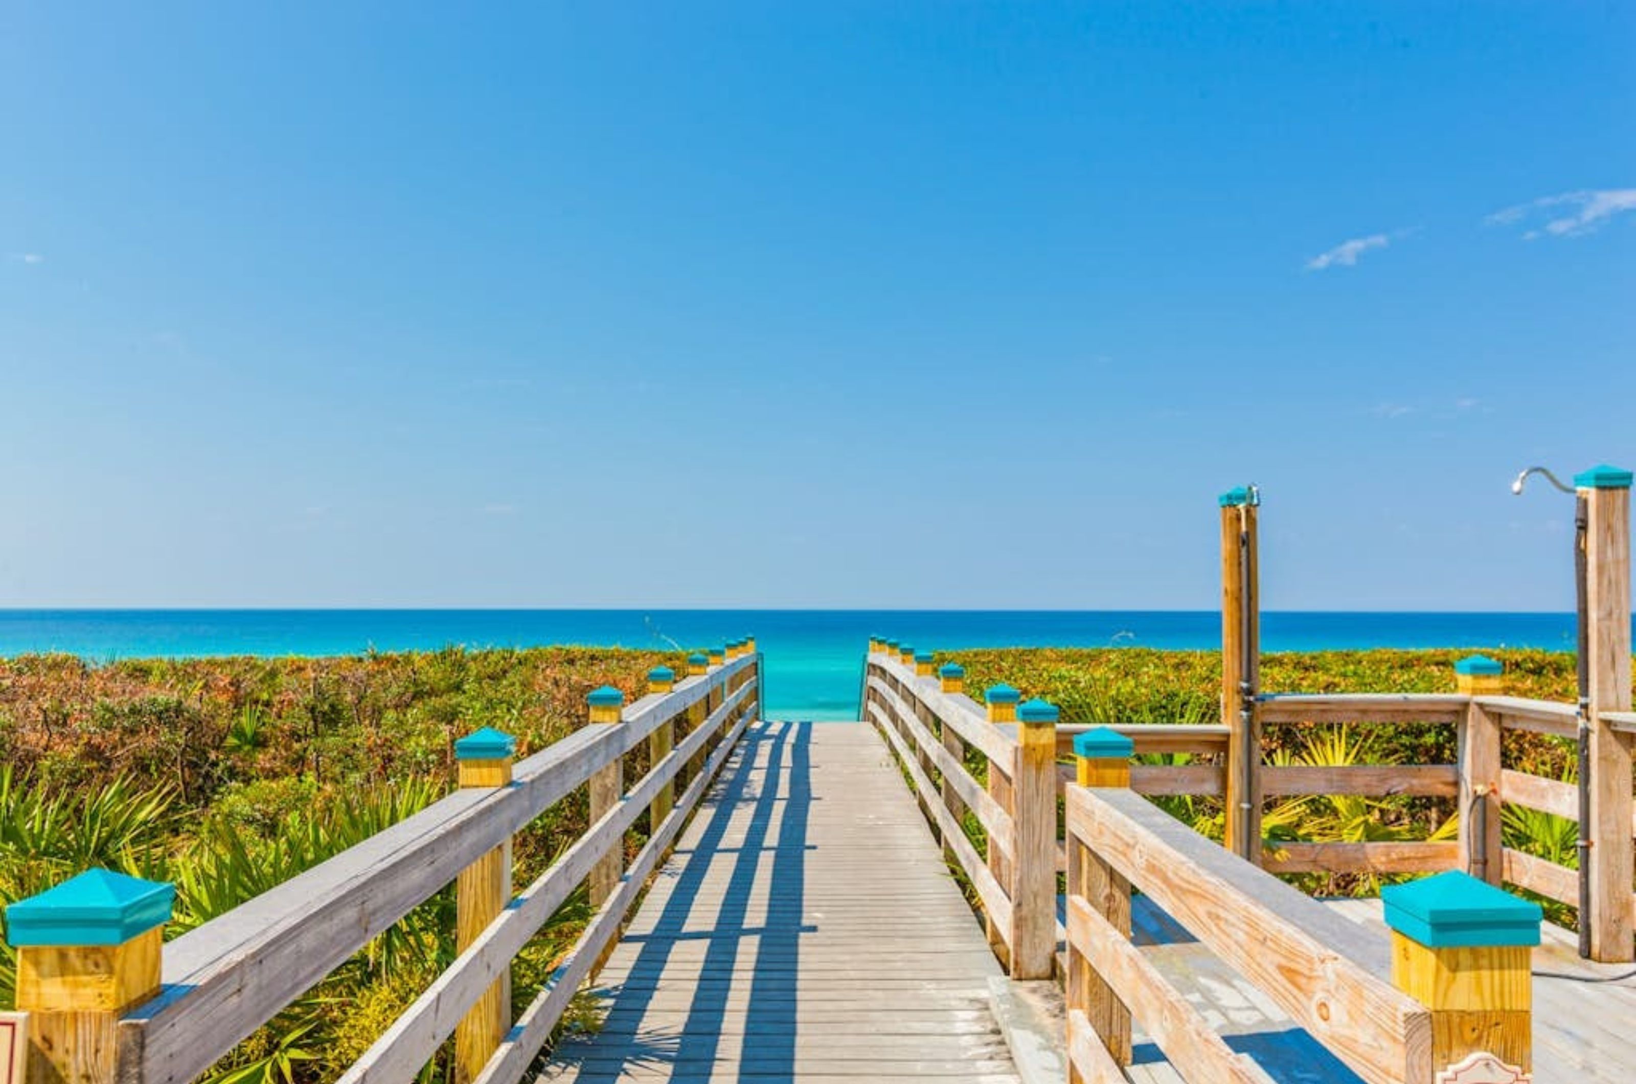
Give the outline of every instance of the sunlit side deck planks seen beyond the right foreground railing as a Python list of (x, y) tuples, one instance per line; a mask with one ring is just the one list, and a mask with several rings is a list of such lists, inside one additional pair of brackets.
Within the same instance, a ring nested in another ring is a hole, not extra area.
[[(1379, 899), (1325, 902), (1387, 937)], [(1253, 1058), (1268, 1079), (1276, 1084), (1363, 1084), (1283, 1009), (1193, 940), (1150, 899), (1139, 896), (1132, 901), (1130, 925), (1147, 958), (1225, 1037), (1227, 1045)], [(1574, 935), (1546, 924), (1544, 943), (1533, 953), (1533, 969), (1535, 1079), (1539, 1084), (1636, 1081), (1636, 978), (1618, 981), (1631, 973), (1631, 966), (1584, 961)], [(1134, 1084), (1181, 1084), (1181, 1076), (1158, 1046), (1140, 1030), (1134, 1038), (1134, 1058), (1126, 1071)]]

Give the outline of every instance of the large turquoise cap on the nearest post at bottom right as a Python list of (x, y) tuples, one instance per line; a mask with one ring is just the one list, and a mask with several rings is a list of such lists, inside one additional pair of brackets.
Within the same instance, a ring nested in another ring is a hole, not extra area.
[(1544, 912), (1469, 873), (1387, 884), (1381, 889), (1386, 925), (1427, 948), (1538, 945)]

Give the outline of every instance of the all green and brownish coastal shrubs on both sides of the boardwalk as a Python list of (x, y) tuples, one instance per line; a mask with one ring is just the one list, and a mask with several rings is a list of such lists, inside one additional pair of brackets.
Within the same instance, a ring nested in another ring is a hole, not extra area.
[[(1289, 693), (1451, 693), (1453, 663), (1464, 653), (1266, 655), (1261, 683)], [(1572, 699), (1571, 655), (1490, 653), (1505, 663), (1507, 691)], [(939, 657), (947, 660), (967, 668), (977, 696), (1006, 681), (1058, 704), (1065, 722), (1204, 724), (1219, 714), (1217, 652), (969, 650)], [(175, 937), (447, 794), (455, 738), (496, 727), (515, 735), (525, 757), (584, 724), (589, 689), (614, 684), (635, 698), (656, 665), (681, 671), (685, 662), (602, 648), (0, 660), (0, 904), (108, 866), (177, 884), (167, 928)], [(1268, 743), (1270, 760), (1283, 763), (1454, 760), (1451, 727), (1291, 725), (1270, 729)], [(1505, 758), (1572, 778), (1572, 750), (1557, 738), (1510, 735)], [(1219, 802), (1158, 801), (1219, 837)], [(1451, 817), (1446, 799), (1309, 797), (1270, 809), (1266, 825), (1279, 838), (1441, 838), (1453, 832)], [(517, 883), (548, 866), (587, 820), (579, 794), (520, 833)], [(1572, 822), (1508, 817), (1505, 832), (1512, 847), (1574, 861)], [(1360, 878), (1301, 879), (1317, 892), (1378, 889)], [(440, 892), (242, 1043), (211, 1079), (334, 1079), (453, 958), (453, 894)], [(584, 899), (571, 899), (519, 958), (517, 1010), (587, 917)], [(13, 974), (11, 958), (0, 960), (0, 1005), (11, 1004)], [(445, 1056), (425, 1079), (447, 1076)]]

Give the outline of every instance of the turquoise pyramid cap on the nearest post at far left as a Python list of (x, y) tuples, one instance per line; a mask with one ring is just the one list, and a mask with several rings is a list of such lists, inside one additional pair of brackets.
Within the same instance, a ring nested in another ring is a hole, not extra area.
[(124, 945), (170, 922), (177, 886), (87, 869), (5, 909), (7, 942), (25, 945)]

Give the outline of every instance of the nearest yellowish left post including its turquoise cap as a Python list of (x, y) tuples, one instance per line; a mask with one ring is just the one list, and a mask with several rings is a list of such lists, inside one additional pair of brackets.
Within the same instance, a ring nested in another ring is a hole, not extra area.
[(159, 992), (177, 889), (88, 869), (7, 907), (28, 1084), (111, 1084), (119, 1017)]

